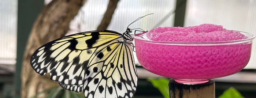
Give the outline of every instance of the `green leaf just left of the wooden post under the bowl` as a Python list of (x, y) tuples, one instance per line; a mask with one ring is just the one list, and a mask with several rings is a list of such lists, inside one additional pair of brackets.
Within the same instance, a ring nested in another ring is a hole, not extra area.
[(154, 79), (154, 78), (148, 78), (149, 82), (152, 83), (152, 85), (157, 88), (160, 93), (164, 96), (164, 98), (170, 98), (169, 97), (169, 80), (166, 78), (160, 78), (160, 79)]

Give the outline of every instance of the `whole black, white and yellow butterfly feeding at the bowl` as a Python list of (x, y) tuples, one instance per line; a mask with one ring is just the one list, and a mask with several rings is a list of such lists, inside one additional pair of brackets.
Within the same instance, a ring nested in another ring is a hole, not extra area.
[(131, 24), (123, 34), (96, 30), (51, 41), (33, 53), (31, 67), (40, 75), (50, 73), (66, 90), (83, 91), (86, 98), (132, 98), (138, 77)]

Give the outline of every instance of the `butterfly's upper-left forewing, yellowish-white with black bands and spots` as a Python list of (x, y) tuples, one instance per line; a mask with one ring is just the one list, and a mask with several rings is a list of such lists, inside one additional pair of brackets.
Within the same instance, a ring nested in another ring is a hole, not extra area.
[(100, 46), (120, 36), (110, 30), (68, 35), (38, 48), (31, 56), (30, 64), (40, 75), (50, 73), (50, 79), (63, 85), (82, 85), (89, 59), (95, 56)]

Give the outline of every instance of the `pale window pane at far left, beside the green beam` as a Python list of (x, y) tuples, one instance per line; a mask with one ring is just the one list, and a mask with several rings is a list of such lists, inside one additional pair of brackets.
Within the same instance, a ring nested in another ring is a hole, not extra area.
[(0, 13), (0, 64), (15, 64), (17, 0), (1, 0)]

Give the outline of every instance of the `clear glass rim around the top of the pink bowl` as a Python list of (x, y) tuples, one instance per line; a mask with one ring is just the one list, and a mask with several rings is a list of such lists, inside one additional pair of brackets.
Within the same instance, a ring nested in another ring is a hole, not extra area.
[[(233, 30), (236, 31), (236, 30)], [(255, 38), (255, 35), (251, 34), (251, 33), (246, 33), (246, 32), (242, 32), (242, 31), (237, 31), (240, 32), (241, 34), (244, 34), (246, 37), (246, 39), (239, 39), (239, 40), (233, 40), (233, 41), (218, 41), (218, 42), (172, 42), (172, 41), (150, 41), (150, 40), (146, 40), (144, 38), (138, 37), (138, 34), (134, 34), (133, 38), (135, 40), (140, 40), (143, 42), (147, 42), (147, 43), (152, 43), (152, 44), (164, 44), (164, 45), (182, 45), (182, 46), (212, 46), (212, 45), (232, 45), (232, 44), (241, 44), (241, 43), (245, 43), (246, 44), (251, 44), (253, 39)]]

